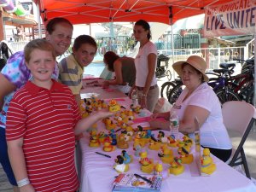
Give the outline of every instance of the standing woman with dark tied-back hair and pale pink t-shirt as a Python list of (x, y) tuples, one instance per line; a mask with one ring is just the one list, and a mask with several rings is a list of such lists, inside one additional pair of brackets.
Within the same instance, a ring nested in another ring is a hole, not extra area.
[(135, 58), (136, 88), (142, 108), (153, 112), (159, 98), (159, 87), (155, 78), (157, 49), (149, 40), (150, 26), (146, 20), (137, 20), (133, 27), (134, 37), (140, 42), (140, 48)]

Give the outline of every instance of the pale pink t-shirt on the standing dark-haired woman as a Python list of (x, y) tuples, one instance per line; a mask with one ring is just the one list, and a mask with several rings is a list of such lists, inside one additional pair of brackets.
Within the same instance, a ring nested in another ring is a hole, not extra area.
[[(155, 55), (157, 55), (157, 49), (156, 49), (156, 46), (151, 41), (148, 41), (147, 44), (144, 44), (143, 48), (139, 49), (139, 52), (135, 58), (135, 61), (134, 61), (135, 67), (136, 67), (135, 84), (138, 87), (144, 87), (146, 84), (146, 79), (148, 77), (148, 55), (151, 53), (154, 53)], [(157, 61), (155, 61), (155, 67), (156, 67), (156, 62)], [(152, 79), (150, 86), (153, 86), (156, 83), (157, 81), (154, 74), (154, 77)]]

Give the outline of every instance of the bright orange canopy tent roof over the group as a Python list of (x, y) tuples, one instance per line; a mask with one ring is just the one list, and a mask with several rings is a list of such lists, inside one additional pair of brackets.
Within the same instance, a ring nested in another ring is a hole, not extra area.
[(204, 13), (205, 7), (232, 0), (34, 0), (45, 21), (64, 17), (73, 24), (137, 21), (172, 25)]

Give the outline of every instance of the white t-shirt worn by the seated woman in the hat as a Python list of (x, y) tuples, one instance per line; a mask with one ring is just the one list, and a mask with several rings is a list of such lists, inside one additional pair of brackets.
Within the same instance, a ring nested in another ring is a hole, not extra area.
[(176, 110), (178, 118), (183, 119), (184, 111), (189, 105), (207, 109), (210, 114), (200, 128), (201, 145), (209, 148), (232, 148), (229, 134), (223, 123), (220, 102), (212, 88), (207, 83), (203, 83), (183, 101), (188, 91), (185, 88), (172, 107)]

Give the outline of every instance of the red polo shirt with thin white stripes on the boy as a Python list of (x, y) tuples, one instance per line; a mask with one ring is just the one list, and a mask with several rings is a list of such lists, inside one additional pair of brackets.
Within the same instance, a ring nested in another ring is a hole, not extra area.
[(75, 191), (73, 128), (79, 108), (67, 85), (53, 80), (50, 90), (28, 81), (9, 104), (8, 141), (23, 137), (26, 170), (36, 191)]

